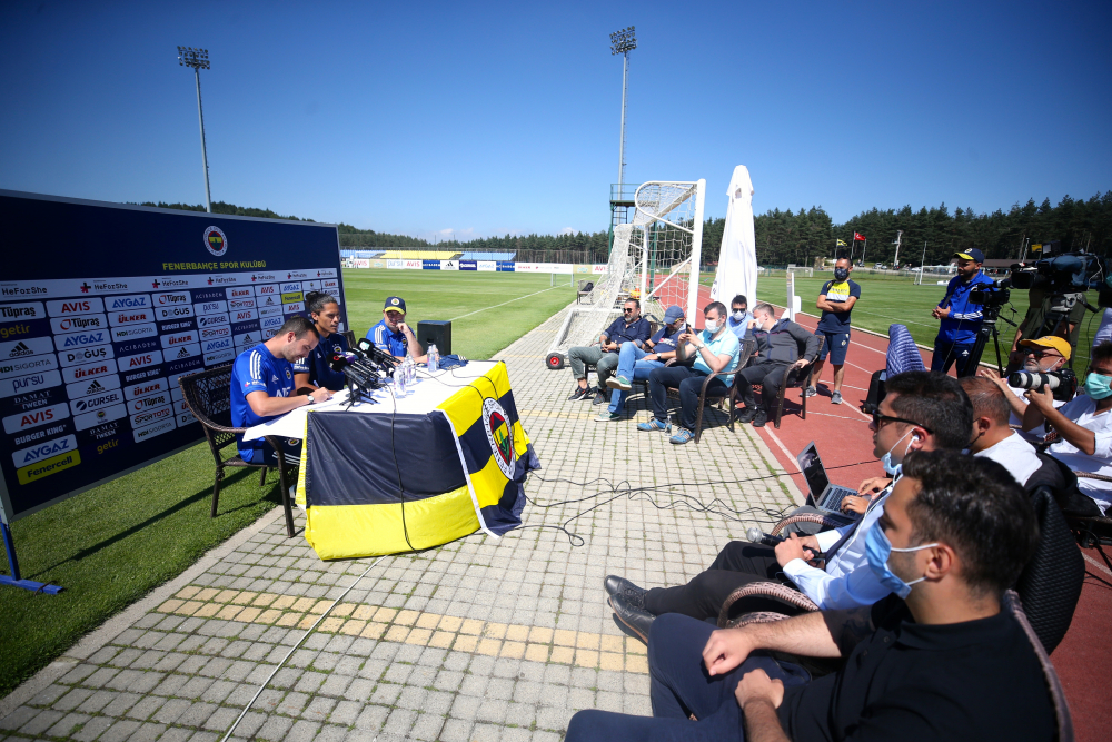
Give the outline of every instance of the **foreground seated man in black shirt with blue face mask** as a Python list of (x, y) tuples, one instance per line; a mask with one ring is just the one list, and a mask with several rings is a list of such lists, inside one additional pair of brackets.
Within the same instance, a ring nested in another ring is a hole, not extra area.
[[(1002, 605), (1039, 537), (1023, 491), (993, 461), (916, 451), (884, 511), (868, 568), (892, 595), (739, 629), (661, 616), (653, 716), (580, 711), (567, 742), (1055, 739), (1039, 655)], [(810, 680), (770, 651), (845, 662)]]

